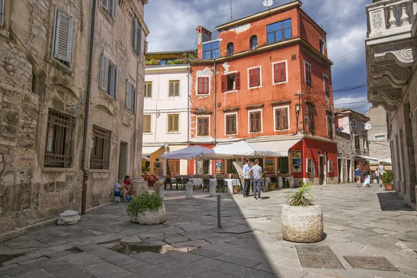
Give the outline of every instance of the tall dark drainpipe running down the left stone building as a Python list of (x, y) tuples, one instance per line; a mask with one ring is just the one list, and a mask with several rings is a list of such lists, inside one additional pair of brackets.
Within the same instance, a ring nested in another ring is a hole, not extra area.
[(88, 114), (90, 111), (90, 91), (91, 91), (91, 69), (92, 69), (92, 47), (94, 46), (95, 13), (97, 0), (92, 0), (91, 28), (90, 28), (90, 47), (88, 49), (88, 74), (87, 74), (87, 93), (85, 95), (84, 113), (84, 133), (83, 133), (83, 154), (81, 156), (81, 170), (83, 170), (83, 195), (81, 197), (81, 215), (85, 215), (85, 204), (87, 199), (88, 168), (85, 167), (85, 155), (87, 154), (87, 133), (88, 133)]

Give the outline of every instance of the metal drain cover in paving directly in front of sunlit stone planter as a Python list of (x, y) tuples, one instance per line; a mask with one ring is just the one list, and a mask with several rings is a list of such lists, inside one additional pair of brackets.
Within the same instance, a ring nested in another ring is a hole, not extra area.
[(333, 250), (327, 245), (296, 245), (302, 268), (345, 269)]

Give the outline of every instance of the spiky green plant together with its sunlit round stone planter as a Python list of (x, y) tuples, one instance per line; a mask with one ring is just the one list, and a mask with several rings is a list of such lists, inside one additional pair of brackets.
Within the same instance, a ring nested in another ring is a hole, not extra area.
[(321, 206), (313, 204), (311, 185), (307, 183), (289, 193), (282, 206), (282, 236), (296, 243), (316, 243), (323, 239), (323, 215)]

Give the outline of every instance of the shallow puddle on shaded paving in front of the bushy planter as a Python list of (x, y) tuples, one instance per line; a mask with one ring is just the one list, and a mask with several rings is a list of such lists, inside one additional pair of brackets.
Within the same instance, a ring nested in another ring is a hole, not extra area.
[(190, 252), (198, 247), (172, 247), (171, 245), (140, 245), (139, 243), (117, 243), (110, 250), (120, 254), (138, 254), (144, 252), (152, 252), (156, 254), (165, 254), (172, 251)]

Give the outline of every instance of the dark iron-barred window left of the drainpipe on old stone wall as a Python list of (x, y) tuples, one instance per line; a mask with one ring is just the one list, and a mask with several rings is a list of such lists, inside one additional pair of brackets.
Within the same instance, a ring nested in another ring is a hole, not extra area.
[(55, 111), (48, 112), (44, 167), (70, 167), (74, 125), (73, 117)]

